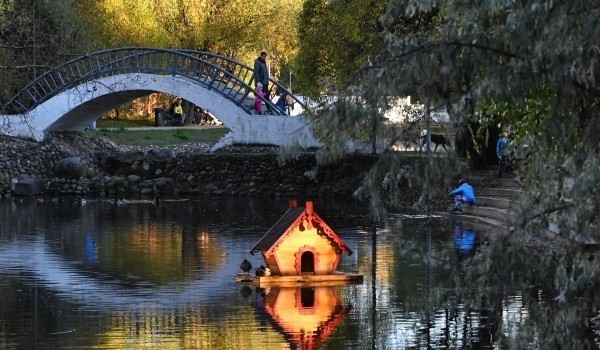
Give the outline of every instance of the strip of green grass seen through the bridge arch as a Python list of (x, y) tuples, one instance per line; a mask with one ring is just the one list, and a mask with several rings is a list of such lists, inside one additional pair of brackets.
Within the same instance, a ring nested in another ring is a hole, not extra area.
[(208, 142), (215, 143), (223, 135), (228, 133), (226, 128), (207, 128), (207, 129), (151, 129), (135, 130), (125, 129), (96, 129), (86, 131), (90, 137), (106, 137), (107, 139), (121, 145), (134, 146), (167, 146), (178, 145), (182, 143)]

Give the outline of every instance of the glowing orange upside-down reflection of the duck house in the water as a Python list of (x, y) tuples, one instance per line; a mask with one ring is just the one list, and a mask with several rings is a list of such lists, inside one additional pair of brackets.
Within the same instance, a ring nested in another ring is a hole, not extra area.
[(333, 287), (271, 288), (257, 302), (293, 349), (317, 349), (331, 337), (347, 307)]

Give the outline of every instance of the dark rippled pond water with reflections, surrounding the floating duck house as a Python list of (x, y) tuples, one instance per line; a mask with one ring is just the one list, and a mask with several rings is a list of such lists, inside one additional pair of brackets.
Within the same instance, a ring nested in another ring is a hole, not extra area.
[(115, 206), (0, 202), (0, 348), (498, 348), (526, 318), (520, 291), (455, 297), (486, 232), (443, 218), (318, 201), (352, 249), (339, 270), (360, 285), (257, 290), (240, 262), (284, 200), (202, 199)]

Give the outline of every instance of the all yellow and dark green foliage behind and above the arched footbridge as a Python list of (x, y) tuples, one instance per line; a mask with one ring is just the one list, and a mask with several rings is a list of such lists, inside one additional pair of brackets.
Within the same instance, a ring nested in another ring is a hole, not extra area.
[(0, 6), (3, 104), (36, 76), (99, 48), (204, 50), (249, 65), (267, 51), (271, 75), (289, 77), (302, 1), (7, 0)]

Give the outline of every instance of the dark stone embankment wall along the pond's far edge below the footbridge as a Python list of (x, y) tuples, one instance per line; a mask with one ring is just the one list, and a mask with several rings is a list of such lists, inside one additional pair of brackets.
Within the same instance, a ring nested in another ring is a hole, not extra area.
[[(56, 165), (65, 158), (80, 160), (80, 174), (60, 175)], [(176, 154), (152, 148), (122, 152), (105, 139), (59, 133), (43, 143), (0, 139), (0, 191), (124, 198), (155, 194), (344, 197), (356, 190), (375, 161), (375, 156), (352, 155), (320, 167), (316, 179), (311, 179), (305, 174), (316, 165), (312, 153), (281, 164), (274, 152)]]

